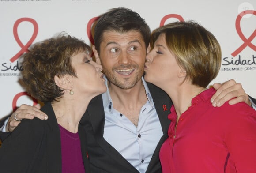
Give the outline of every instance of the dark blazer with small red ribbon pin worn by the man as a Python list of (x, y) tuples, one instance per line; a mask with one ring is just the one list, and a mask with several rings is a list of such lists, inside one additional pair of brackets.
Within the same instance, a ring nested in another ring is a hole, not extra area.
[[(160, 88), (148, 83), (156, 111), (162, 126), (163, 136), (158, 142), (146, 173), (161, 173), (159, 150), (167, 139), (170, 121), (167, 118), (172, 102)], [(166, 106), (166, 107), (165, 107)], [(103, 138), (105, 113), (102, 95), (92, 99), (86, 113), (80, 121), (87, 133), (88, 157), (92, 173), (139, 173), (121, 154)], [(115, 132), (113, 132), (115, 135)], [(147, 146), (144, 146), (147, 147)]]

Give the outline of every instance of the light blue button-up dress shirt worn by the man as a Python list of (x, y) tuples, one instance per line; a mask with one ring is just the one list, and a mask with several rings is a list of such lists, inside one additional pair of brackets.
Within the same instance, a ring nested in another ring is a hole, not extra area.
[(103, 137), (140, 173), (145, 173), (163, 132), (147, 83), (143, 78), (142, 81), (148, 101), (140, 110), (137, 128), (113, 108), (109, 89), (102, 94), (105, 110)]

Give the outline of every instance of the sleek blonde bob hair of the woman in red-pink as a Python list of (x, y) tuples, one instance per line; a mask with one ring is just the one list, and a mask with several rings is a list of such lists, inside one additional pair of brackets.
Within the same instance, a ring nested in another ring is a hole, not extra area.
[(193, 21), (169, 23), (154, 30), (151, 48), (160, 34), (165, 34), (166, 45), (187, 72), (184, 80), (207, 87), (215, 79), (221, 66), (221, 48), (211, 32)]

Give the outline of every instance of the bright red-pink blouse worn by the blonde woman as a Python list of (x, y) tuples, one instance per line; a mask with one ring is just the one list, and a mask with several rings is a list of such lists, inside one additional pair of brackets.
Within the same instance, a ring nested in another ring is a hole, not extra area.
[[(213, 107), (205, 90), (181, 114), (174, 106), (160, 149), (163, 173), (256, 173), (256, 111), (247, 104)], [(173, 136), (175, 138), (173, 138)]]

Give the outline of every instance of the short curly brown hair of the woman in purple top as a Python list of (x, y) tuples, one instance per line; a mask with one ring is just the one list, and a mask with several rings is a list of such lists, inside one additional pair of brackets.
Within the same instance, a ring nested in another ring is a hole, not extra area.
[(71, 57), (79, 52), (91, 53), (90, 46), (83, 40), (61, 33), (35, 43), (23, 55), (22, 84), (28, 94), (41, 102), (57, 101), (63, 89), (54, 82), (54, 76), (76, 76)]

